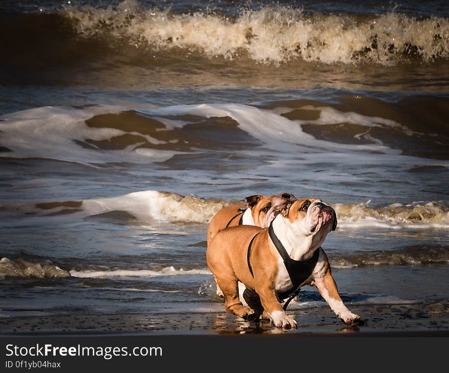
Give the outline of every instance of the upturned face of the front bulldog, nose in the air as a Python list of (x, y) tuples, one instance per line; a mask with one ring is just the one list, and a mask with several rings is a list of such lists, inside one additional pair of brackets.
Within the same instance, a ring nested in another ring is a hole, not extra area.
[(337, 228), (334, 209), (320, 199), (290, 200), (272, 196), (270, 200), (292, 233), (297, 237), (311, 238), (313, 247), (319, 246), (328, 233)]

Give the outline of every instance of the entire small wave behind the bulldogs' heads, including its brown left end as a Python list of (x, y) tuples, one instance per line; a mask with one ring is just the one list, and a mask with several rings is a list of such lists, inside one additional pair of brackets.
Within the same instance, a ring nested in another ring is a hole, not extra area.
[[(273, 191), (275, 194), (279, 191)], [(298, 196), (308, 198), (309, 196)], [(183, 196), (177, 193), (147, 190), (116, 197), (93, 198), (84, 201), (45, 201), (1, 205), (4, 213), (26, 214), (31, 217), (55, 217), (81, 214), (84, 218), (113, 220), (137, 225), (160, 222), (193, 222), (207, 224), (225, 206), (244, 204), (243, 200)], [(409, 204), (373, 205), (361, 203), (331, 204), (337, 213), (338, 227), (386, 229), (447, 229), (449, 205), (445, 201), (417, 201)]]

